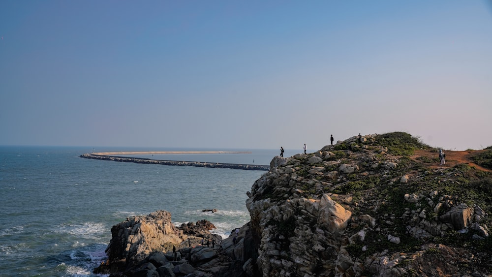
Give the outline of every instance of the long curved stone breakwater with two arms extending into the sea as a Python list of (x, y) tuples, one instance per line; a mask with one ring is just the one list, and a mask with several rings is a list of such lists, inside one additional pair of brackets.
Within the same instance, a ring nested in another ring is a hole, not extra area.
[(88, 159), (111, 160), (120, 162), (146, 163), (146, 164), (162, 164), (162, 165), (184, 165), (196, 167), (210, 168), (232, 168), (243, 170), (270, 170), (269, 165), (256, 164), (239, 164), (239, 163), (215, 163), (215, 162), (200, 162), (200, 161), (174, 161), (174, 160), (155, 160), (138, 157), (125, 157), (120, 155), (135, 155), (135, 154), (251, 154), (251, 152), (228, 152), (228, 151), (146, 151), (146, 152), (98, 152), (82, 154), (80, 157)]

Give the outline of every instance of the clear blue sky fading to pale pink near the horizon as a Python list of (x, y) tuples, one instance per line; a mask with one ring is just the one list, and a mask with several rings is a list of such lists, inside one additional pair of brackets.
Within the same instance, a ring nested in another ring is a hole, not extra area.
[(0, 145), (492, 145), (492, 1), (0, 1)]

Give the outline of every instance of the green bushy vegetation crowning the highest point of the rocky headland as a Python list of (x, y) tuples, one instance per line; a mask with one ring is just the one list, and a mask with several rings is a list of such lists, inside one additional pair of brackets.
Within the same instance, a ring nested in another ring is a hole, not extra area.
[(376, 136), (376, 144), (387, 147), (390, 154), (400, 156), (412, 155), (414, 150), (430, 148), (422, 143), (418, 137), (412, 137), (405, 132), (378, 135)]

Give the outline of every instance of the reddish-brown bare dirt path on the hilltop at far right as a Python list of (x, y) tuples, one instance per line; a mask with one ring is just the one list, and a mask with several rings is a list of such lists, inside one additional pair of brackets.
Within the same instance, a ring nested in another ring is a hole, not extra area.
[(469, 166), (475, 167), (476, 169), (490, 172), (491, 170), (481, 167), (480, 165), (474, 163), (473, 161), (473, 157), (481, 152), (483, 152), (483, 150), (444, 151), (444, 153), (446, 154), (445, 165), (439, 165), (439, 162), (437, 161), (437, 157), (439, 156), (439, 153), (436, 151), (429, 151), (429, 150), (414, 151), (414, 154), (410, 156), (410, 158), (413, 160), (417, 160), (417, 157), (428, 157), (430, 159), (436, 160), (435, 165), (431, 165), (431, 168), (453, 167), (457, 164), (465, 163)]

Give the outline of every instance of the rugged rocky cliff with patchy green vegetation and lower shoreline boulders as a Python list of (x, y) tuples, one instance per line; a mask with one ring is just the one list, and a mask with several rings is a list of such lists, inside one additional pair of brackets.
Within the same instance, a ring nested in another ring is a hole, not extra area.
[[(277, 156), (247, 192), (250, 222), (237, 236), (215, 238), (220, 247), (196, 244), (210, 238), (208, 231), (192, 245), (185, 228), (171, 226), (147, 226), (169, 239), (136, 247), (142, 240), (121, 239), (146, 232), (131, 219), (112, 230), (119, 243), (112, 240), (108, 253), (117, 254), (105, 266), (133, 247), (143, 254), (125, 257), (126, 268), (118, 268), (127, 276), (135, 269), (145, 276), (489, 276), (492, 175), (469, 164), (439, 166), (435, 149), (401, 132)], [(179, 262), (154, 262), (155, 269), (145, 262), (156, 253), (169, 256), (171, 245)], [(206, 254), (193, 258), (197, 251)]]

